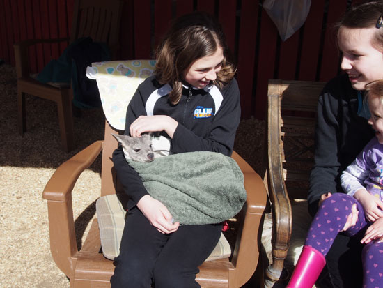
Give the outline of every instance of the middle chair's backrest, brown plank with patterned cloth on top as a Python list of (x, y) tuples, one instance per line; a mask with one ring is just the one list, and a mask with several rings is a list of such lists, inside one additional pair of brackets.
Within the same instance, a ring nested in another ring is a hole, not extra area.
[(123, 134), (125, 131), (127, 105), (139, 84), (153, 74), (154, 68), (153, 60), (127, 60), (96, 62), (87, 69), (88, 77), (97, 81), (106, 118), (102, 149), (101, 196), (123, 193), (111, 160), (118, 142), (111, 134)]

